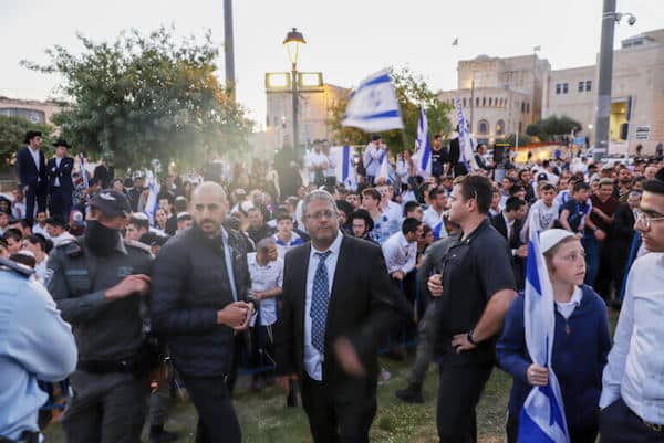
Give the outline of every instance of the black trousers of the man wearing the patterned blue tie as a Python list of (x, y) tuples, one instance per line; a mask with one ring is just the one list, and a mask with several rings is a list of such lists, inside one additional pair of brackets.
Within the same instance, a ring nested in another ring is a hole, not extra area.
[(314, 443), (369, 442), (376, 415), (375, 377), (326, 386), (304, 375), (300, 390)]

